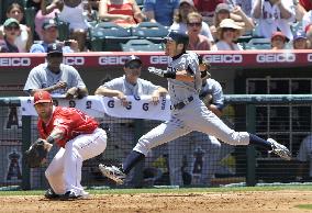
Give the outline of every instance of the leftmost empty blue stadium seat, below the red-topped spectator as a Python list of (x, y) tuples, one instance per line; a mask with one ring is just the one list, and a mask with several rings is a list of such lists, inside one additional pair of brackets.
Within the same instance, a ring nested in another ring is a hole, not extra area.
[(92, 51), (122, 51), (121, 44), (132, 38), (130, 29), (119, 26), (113, 22), (99, 22), (89, 30)]

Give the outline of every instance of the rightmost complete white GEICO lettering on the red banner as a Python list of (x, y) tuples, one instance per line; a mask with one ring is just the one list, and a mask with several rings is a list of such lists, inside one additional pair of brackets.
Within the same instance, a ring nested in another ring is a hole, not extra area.
[(296, 55), (291, 53), (287, 54), (258, 54), (257, 63), (293, 63)]

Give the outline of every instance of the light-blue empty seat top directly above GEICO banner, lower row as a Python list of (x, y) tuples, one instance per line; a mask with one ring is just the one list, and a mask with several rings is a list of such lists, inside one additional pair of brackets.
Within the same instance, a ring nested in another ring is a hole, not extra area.
[(154, 44), (148, 40), (130, 40), (122, 44), (123, 52), (160, 52), (164, 51), (161, 44)]

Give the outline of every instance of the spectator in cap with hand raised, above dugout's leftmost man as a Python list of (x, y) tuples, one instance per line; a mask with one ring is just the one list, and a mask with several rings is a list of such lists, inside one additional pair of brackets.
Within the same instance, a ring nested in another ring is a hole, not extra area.
[[(42, 36), (43, 41), (31, 46), (30, 53), (47, 53), (48, 44), (58, 43), (58, 30), (57, 23), (54, 19), (47, 19), (44, 21), (42, 25)], [(75, 40), (68, 41), (68, 43), (64, 44), (63, 52), (64, 53), (73, 53), (78, 52), (78, 43)]]

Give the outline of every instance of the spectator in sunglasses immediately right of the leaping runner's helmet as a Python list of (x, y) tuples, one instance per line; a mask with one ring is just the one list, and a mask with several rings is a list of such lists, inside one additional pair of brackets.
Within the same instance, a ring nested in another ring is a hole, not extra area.
[(211, 42), (208, 37), (200, 35), (202, 16), (198, 12), (191, 12), (187, 18), (189, 45), (188, 51), (210, 51)]

